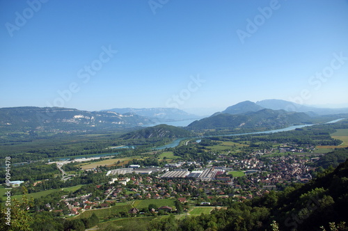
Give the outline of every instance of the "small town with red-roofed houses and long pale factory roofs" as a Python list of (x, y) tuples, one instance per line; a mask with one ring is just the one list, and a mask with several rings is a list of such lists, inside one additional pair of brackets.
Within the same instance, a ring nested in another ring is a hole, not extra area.
[[(258, 150), (247, 156), (233, 157), (219, 154), (216, 160), (202, 162), (177, 161), (159, 166), (130, 164), (127, 168), (102, 171), (100, 168), (86, 169), (86, 173), (104, 172), (104, 184), (81, 195), (63, 195), (53, 205), (45, 204), (41, 210), (76, 216), (81, 212), (102, 209), (114, 205), (134, 205), (136, 200), (177, 200), (188, 212), (189, 205), (205, 207), (224, 207), (230, 201), (243, 201), (262, 196), (272, 190), (280, 190), (292, 183), (306, 183), (312, 179), (313, 167), (308, 163), (319, 157), (303, 158), (303, 149), (279, 148), (280, 153), (296, 152), (298, 155), (285, 154), (278, 157), (260, 158), (271, 154), (274, 149)], [(81, 159), (75, 160), (81, 162)], [(65, 164), (70, 163), (65, 161)], [(187, 167), (191, 167), (189, 170)], [(74, 177), (74, 175), (70, 175)], [(76, 177), (76, 176), (75, 176)], [(68, 180), (65, 178), (65, 180)], [(151, 208), (152, 212), (176, 212), (175, 207), (167, 205)], [(140, 208), (129, 209), (118, 216), (145, 214)], [(161, 212), (161, 213), (162, 213)]]

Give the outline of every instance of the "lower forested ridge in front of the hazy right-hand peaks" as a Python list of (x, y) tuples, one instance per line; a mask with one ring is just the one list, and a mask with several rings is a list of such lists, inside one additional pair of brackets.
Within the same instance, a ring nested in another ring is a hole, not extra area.
[(188, 129), (278, 129), (294, 124), (310, 123), (311, 120), (312, 118), (306, 113), (262, 109), (237, 115), (222, 113), (202, 120), (196, 120), (188, 126)]

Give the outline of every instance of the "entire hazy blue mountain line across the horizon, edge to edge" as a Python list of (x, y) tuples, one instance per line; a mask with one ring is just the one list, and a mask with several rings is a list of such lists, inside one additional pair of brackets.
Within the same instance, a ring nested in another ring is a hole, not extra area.
[[(187, 129), (258, 129), (281, 128), (313, 122), (322, 115), (348, 113), (348, 109), (319, 109), (279, 99), (260, 102), (240, 102), (226, 110), (192, 122)], [(180, 109), (110, 109), (105, 111), (80, 111), (65, 108), (40, 108), (33, 106), (0, 109), (0, 129), (32, 131), (85, 131), (93, 129), (129, 128), (177, 120), (198, 119), (199, 116)]]

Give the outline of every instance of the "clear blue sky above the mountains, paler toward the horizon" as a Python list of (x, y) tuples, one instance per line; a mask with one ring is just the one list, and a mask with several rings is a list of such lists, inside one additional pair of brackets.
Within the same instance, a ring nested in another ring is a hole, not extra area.
[(8, 0), (0, 22), (0, 107), (348, 103), (348, 1)]

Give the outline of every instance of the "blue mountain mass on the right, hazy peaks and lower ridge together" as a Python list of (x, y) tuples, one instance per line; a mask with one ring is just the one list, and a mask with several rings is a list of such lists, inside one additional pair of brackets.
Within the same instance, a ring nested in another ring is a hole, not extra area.
[(192, 122), (188, 129), (235, 129), (251, 131), (280, 129), (291, 125), (317, 122), (326, 115), (348, 113), (348, 109), (318, 109), (280, 99), (260, 102), (244, 101), (228, 106), (225, 111), (214, 113), (208, 118)]

